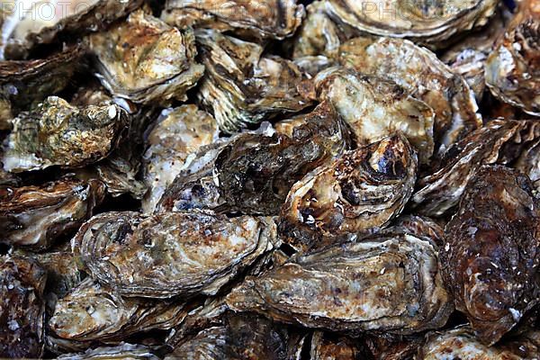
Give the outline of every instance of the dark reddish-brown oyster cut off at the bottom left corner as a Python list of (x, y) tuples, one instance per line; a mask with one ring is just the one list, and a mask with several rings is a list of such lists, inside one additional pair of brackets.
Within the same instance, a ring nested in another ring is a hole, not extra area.
[(40, 357), (43, 353), (46, 275), (37, 261), (0, 257), (0, 356)]

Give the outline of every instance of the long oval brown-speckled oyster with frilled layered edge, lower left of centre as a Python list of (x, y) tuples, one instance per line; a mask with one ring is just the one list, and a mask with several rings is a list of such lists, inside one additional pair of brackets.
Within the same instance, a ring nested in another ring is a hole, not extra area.
[(107, 212), (73, 239), (89, 274), (124, 296), (215, 294), (272, 248), (269, 218), (228, 220), (204, 212)]

